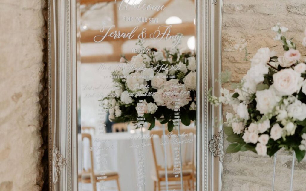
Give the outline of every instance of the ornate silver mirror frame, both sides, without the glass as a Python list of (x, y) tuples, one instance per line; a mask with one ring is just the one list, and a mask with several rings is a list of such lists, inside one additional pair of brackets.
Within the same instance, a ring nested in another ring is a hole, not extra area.
[[(76, 0), (48, 0), (49, 189), (77, 190)], [(197, 4), (197, 191), (219, 191), (222, 182), (222, 107), (212, 108), (207, 92), (220, 94), (222, 0)]]

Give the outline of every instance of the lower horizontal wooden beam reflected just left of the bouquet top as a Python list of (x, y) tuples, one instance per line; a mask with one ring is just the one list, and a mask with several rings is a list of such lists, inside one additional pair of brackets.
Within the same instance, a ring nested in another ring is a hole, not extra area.
[[(131, 60), (132, 56), (136, 54), (128, 53), (125, 54), (125, 57), (128, 60)], [(103, 63), (103, 62), (119, 62), (121, 56), (116, 54), (106, 54), (106, 55), (93, 55), (93, 56), (82, 56), (81, 57), (81, 63)]]

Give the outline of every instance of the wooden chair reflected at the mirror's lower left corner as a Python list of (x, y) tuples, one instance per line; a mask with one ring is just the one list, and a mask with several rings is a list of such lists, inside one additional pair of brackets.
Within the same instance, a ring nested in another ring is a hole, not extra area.
[[(87, 138), (89, 140), (89, 149), (92, 148), (91, 135), (86, 134), (86, 133), (82, 134), (82, 144), (83, 144), (84, 138)], [(84, 151), (82, 153), (84, 153)], [(82, 162), (83, 161), (84, 161), (84, 155), (82, 154)], [(99, 174), (99, 173), (95, 174), (94, 161), (93, 161), (93, 149), (90, 149), (90, 163), (91, 163), (91, 168), (89, 168), (88, 170), (85, 170), (84, 168), (82, 168), (82, 174), (78, 175), (79, 182), (92, 183), (93, 191), (97, 191), (97, 185), (96, 185), (97, 182), (116, 180), (118, 191), (120, 191), (119, 175), (117, 172), (106, 172), (103, 174)]]

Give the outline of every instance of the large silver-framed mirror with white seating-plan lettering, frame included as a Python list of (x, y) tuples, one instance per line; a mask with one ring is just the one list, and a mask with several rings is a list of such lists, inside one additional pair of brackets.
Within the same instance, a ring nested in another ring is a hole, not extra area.
[(50, 0), (51, 190), (222, 182), (216, 0)]

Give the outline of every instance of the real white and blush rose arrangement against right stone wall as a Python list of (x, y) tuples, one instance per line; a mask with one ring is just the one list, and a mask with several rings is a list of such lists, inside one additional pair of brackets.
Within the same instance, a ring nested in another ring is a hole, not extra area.
[[(298, 161), (305, 156), (306, 61), (301, 61), (292, 39), (285, 37), (287, 30), (280, 24), (272, 28), (275, 40), (283, 44), (283, 54), (260, 48), (234, 92), (222, 89), (221, 97), (209, 96), (213, 105), (230, 105), (235, 112), (226, 114), (228, 153), (251, 150), (273, 156), (285, 148), (294, 150)], [(304, 36), (306, 47), (306, 29)]]

